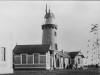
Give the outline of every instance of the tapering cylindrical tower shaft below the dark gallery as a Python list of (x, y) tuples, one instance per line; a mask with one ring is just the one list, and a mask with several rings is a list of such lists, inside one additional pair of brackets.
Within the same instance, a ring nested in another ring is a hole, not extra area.
[(51, 49), (57, 50), (57, 31), (55, 28), (44, 28), (42, 35), (42, 44), (50, 44)]

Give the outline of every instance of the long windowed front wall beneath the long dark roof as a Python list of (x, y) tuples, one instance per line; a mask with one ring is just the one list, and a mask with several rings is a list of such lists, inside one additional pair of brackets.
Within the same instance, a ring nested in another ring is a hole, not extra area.
[(46, 54), (14, 54), (14, 69), (46, 68)]

